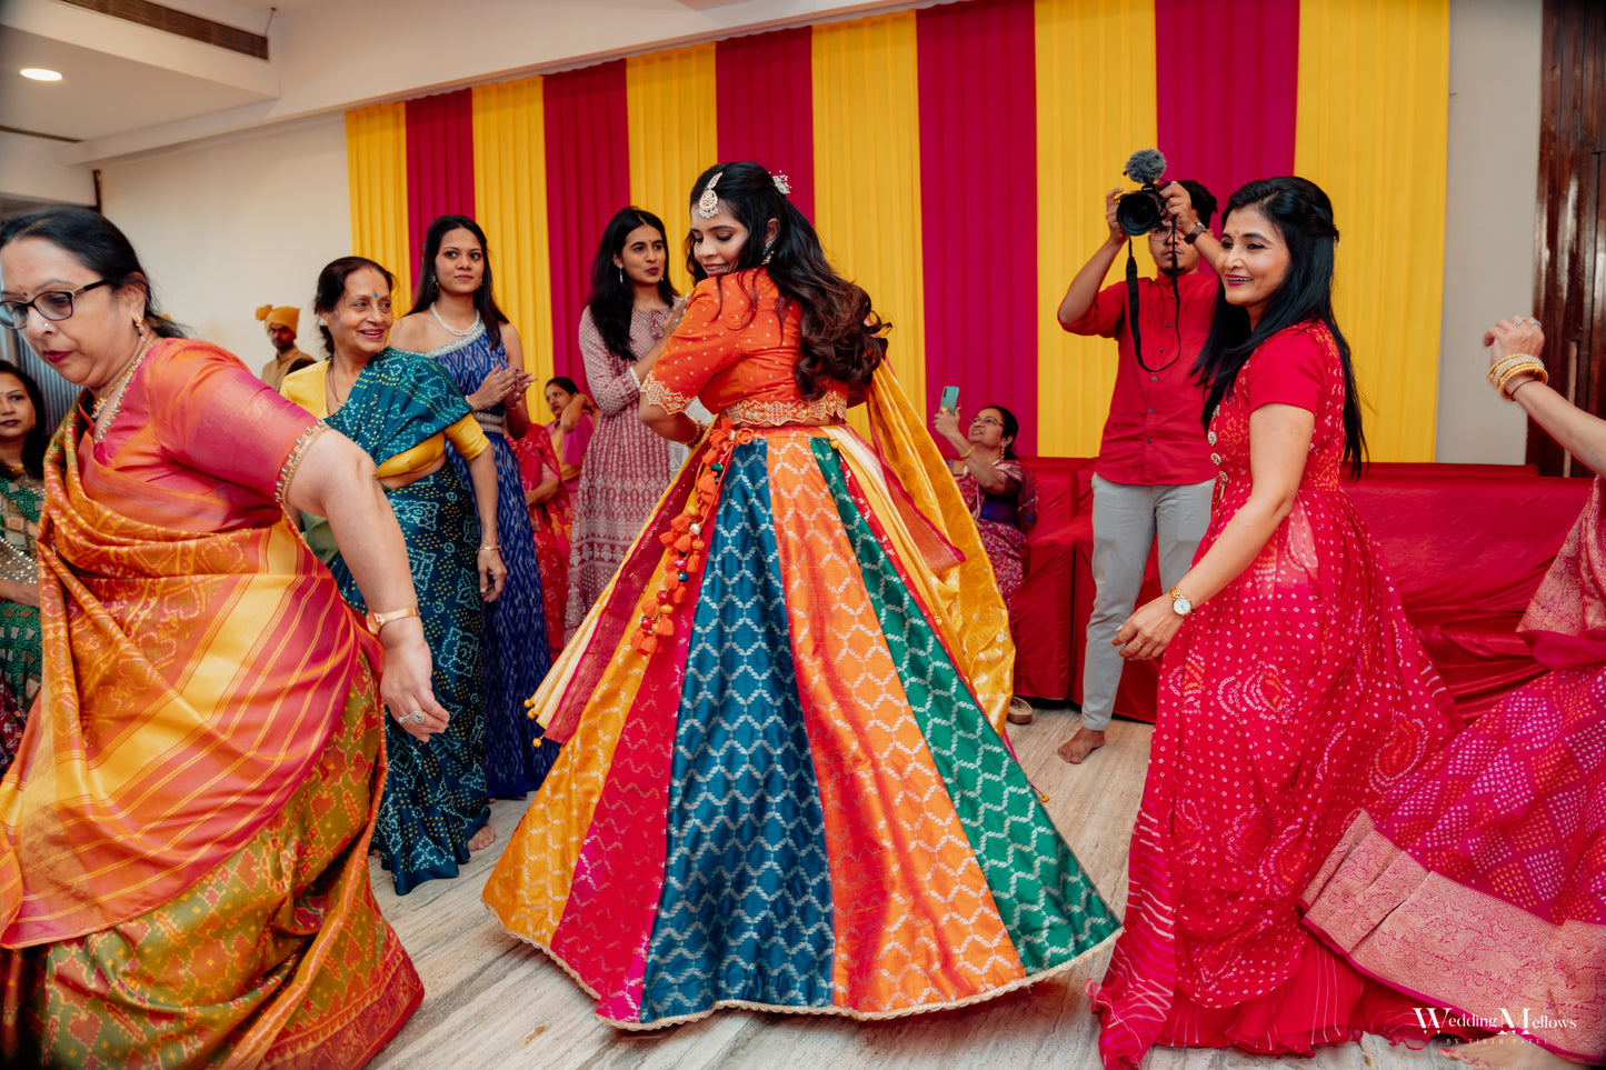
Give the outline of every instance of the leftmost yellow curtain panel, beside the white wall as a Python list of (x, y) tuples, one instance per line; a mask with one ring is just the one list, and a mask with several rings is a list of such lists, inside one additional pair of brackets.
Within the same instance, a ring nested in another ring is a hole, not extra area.
[(352, 190), (352, 252), (395, 272), (397, 313), (413, 292), (406, 227), (406, 104), (345, 112), (347, 180)]

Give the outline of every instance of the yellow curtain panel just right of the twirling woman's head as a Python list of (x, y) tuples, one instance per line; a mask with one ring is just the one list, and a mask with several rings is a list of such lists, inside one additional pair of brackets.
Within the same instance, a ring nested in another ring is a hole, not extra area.
[[(814, 27), (814, 225), (893, 323), (893, 371), (925, 397), (914, 11)], [(856, 410), (858, 411), (858, 410)]]

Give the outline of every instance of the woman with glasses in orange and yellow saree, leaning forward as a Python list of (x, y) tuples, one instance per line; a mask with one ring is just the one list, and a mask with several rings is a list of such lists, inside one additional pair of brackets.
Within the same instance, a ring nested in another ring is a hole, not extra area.
[[(373, 461), (177, 337), (100, 214), (8, 220), (0, 275), (5, 323), (85, 387), (0, 781), (0, 1062), (358, 1067), (422, 998), (368, 884), (381, 718), (446, 725)], [(287, 508), (329, 517), (377, 641)]]

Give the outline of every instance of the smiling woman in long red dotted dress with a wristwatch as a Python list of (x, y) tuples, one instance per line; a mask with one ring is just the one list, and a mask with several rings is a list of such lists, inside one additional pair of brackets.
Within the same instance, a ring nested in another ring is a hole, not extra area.
[[(1158, 636), (1166, 660), (1126, 932), (1092, 986), (1107, 1067), (1135, 1067), (1156, 1043), (1309, 1054), (1375, 1025), (1365, 978), (1304, 930), (1299, 895), (1455, 715), (1339, 487), (1359, 406), (1331, 326), (1336, 236), (1327, 196), (1301, 178), (1249, 183), (1227, 204), (1201, 357), (1221, 471), (1174, 588), (1193, 609), (1179, 615), (1168, 594), (1118, 633), (1129, 657), (1153, 655)], [(1264, 341), (1251, 334), (1262, 326)], [(1241, 363), (1204, 363), (1222, 353)], [(1251, 451), (1251, 426), (1280, 448)]]

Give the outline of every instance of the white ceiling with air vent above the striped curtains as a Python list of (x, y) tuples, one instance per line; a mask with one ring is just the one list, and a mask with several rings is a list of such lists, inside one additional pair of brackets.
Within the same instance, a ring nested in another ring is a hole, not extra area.
[[(164, 2), (267, 34), (268, 59), (58, 0), (0, 0), (0, 127), (74, 141), (51, 143), (56, 164), (96, 167), (381, 100), (938, 0)], [(29, 82), (26, 66), (64, 79)]]

